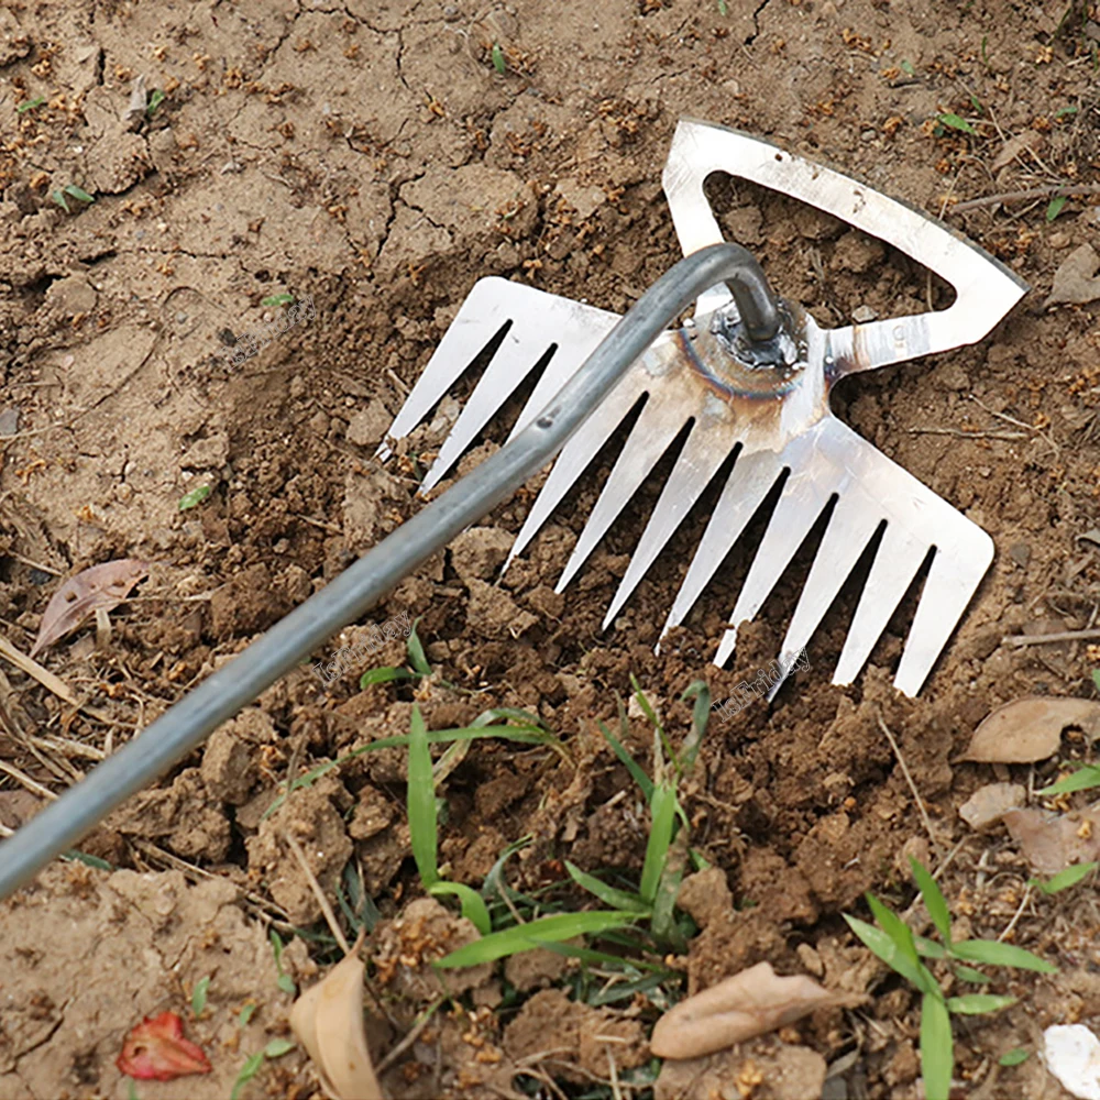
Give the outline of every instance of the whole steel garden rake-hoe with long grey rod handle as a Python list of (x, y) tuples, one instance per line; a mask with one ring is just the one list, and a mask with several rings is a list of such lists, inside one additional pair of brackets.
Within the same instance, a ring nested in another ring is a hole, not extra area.
[[(714, 172), (826, 210), (908, 253), (953, 284), (942, 312), (821, 329), (777, 298), (759, 264), (726, 243), (703, 193)], [(608, 436), (640, 399), (639, 418), (562, 574), (569, 582), (689, 422), (691, 430), (607, 614), (618, 613), (692, 504), (734, 464), (666, 629), (681, 623), (746, 524), (782, 490), (715, 660), (733, 651), (795, 550), (835, 506), (780, 654), (789, 670), (857, 559), (884, 527), (835, 681), (846, 683), (930, 550), (935, 554), (895, 684), (915, 694), (989, 566), (987, 535), (835, 419), (832, 385), (846, 374), (979, 340), (1026, 287), (986, 253), (923, 215), (767, 142), (681, 122), (664, 189), (685, 258), (625, 318), (503, 279), (473, 288), (391, 430), (400, 439), (474, 361), (488, 364), (424, 490), (458, 461), (520, 382), (547, 363), (503, 448), (220, 668), (86, 779), (0, 842), (0, 898), (72, 847), (111, 810), (164, 774), (221, 723), (355, 622), (404, 576), (541, 470), (557, 463), (513, 553), (530, 541)], [(695, 302), (683, 328), (669, 323)], [(564, 448), (564, 449), (562, 449)], [(388, 454), (383, 448), (382, 453)]]

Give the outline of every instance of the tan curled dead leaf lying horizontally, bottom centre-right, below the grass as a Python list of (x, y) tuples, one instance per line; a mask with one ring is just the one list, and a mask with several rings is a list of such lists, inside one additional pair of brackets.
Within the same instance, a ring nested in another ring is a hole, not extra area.
[(666, 1012), (649, 1047), (658, 1058), (701, 1058), (825, 1005), (861, 1000), (823, 989), (805, 975), (781, 978), (770, 963), (758, 963)]

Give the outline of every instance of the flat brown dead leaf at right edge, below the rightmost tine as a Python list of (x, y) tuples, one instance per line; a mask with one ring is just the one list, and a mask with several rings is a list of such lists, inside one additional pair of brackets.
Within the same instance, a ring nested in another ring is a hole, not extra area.
[(1100, 728), (1100, 703), (1087, 698), (1016, 698), (999, 706), (974, 732), (964, 760), (980, 763), (1034, 763), (1054, 756), (1062, 732)]

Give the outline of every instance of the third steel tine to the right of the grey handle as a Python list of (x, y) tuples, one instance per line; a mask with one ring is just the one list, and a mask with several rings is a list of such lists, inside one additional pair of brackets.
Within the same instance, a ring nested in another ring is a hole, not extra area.
[(676, 464), (661, 491), (660, 499), (630, 556), (630, 564), (618, 591), (604, 616), (603, 629), (619, 613), (638, 582), (646, 575), (653, 559), (664, 549), (675, 529), (683, 522), (718, 468), (737, 446), (738, 435), (730, 419), (705, 417), (695, 422)]

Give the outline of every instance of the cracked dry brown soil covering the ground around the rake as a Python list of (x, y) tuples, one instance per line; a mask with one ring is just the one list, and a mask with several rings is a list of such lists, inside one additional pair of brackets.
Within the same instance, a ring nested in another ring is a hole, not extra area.
[[(818, 1013), (697, 1072), (670, 1067), (658, 1096), (736, 1096), (739, 1082), (758, 1098), (801, 1098), (820, 1093), (832, 1064), (833, 1097), (916, 1097), (917, 1007), (868, 966), (839, 914), (867, 889), (908, 904), (903, 855), (937, 864), (953, 851), (941, 881), (957, 919), (975, 935), (999, 935), (1028, 870), (1003, 836), (970, 834), (958, 821), (958, 805), (991, 776), (955, 761), (994, 706), (1022, 694), (1087, 695), (1096, 663), (1079, 644), (1002, 639), (1091, 626), (1100, 602), (1097, 543), (1081, 538), (1098, 526), (1097, 307), (1042, 305), (1069, 252), (1100, 245), (1098, 208), (1070, 199), (1054, 221), (1045, 201), (953, 209), (1000, 191), (1096, 182), (1096, 24), (1079, 2), (1063, 23), (1067, 7), (6, 4), (4, 636), (30, 649), (55, 574), (118, 557), (151, 561), (154, 572), (112, 616), (109, 639), (85, 629), (43, 658), (95, 716), (70, 713), (10, 668), (0, 674), (0, 759), (36, 784), (0, 779), (0, 824), (18, 826), (43, 788), (62, 790), (415, 510), (414, 465), (381, 469), (374, 447), (477, 277), (625, 310), (678, 255), (659, 184), (676, 119), (736, 125), (944, 213), (1034, 287), (979, 345), (855, 380), (836, 395), (839, 415), (998, 546), (922, 697), (889, 688), (911, 598), (857, 684), (829, 686), (854, 607), (845, 591), (811, 644), (811, 669), (773, 707), (715, 724), (684, 792), (693, 843), (722, 871), (716, 895), (732, 899), (721, 916), (696, 914), (703, 931), (680, 964), (688, 987), (768, 959), (875, 997), (861, 1012)], [(127, 114), (138, 77), (164, 92), (144, 118)], [(937, 131), (932, 120), (943, 112), (970, 120), (972, 132)], [(95, 204), (69, 197), (63, 210), (51, 196), (68, 185)], [(746, 186), (719, 183), (714, 201), (728, 235), (822, 323), (945, 300), (912, 264), (832, 218)], [(235, 339), (277, 314), (263, 301), (279, 294), (310, 295), (316, 318), (232, 367)], [(452, 403), (440, 413), (415, 441), (421, 453), (438, 446)], [(479, 453), (503, 438), (494, 426)], [(596, 465), (606, 471), (612, 458)], [(557, 884), (568, 902), (563, 857), (636, 872), (644, 810), (597, 719), (614, 719), (614, 693), (634, 672), (682, 736), (680, 693), (705, 676), (722, 698), (767, 664), (809, 565), (804, 548), (790, 583), (746, 631), (735, 668), (715, 670), (695, 654), (722, 629), (745, 553), (654, 657), (714, 495), (601, 634), (660, 479), (558, 596), (552, 585), (598, 484), (579, 484), (503, 581), (497, 566), (529, 490), (377, 608), (380, 623), (419, 616), (429, 659), (457, 685), (417, 689), (430, 727), (521, 706), (570, 748), (568, 760), (493, 741), (471, 748), (442, 791), (441, 858), (457, 881), (480, 886), (524, 836), (531, 843), (509, 864), (518, 889)], [(212, 487), (209, 499), (180, 513), (179, 498), (200, 485)], [(403, 659), (398, 645), (378, 663)], [(407, 732), (410, 688), (358, 692), (355, 683), (348, 675), (324, 694), (302, 670), (272, 688), (88, 838), (86, 851), (121, 870), (59, 866), (0, 908), (0, 1096), (127, 1096), (114, 1067), (123, 1035), (141, 1015), (185, 1012), (207, 975), (207, 1012), (188, 1034), (215, 1072), (142, 1082), (140, 1094), (228, 1096), (244, 1059), (285, 1031), (289, 998), (275, 985), (263, 924), (285, 931), (319, 917), (288, 861), (286, 828), (309, 839), (327, 890), (349, 861), (362, 868), (382, 916), (369, 948), (375, 980), (397, 1028), (378, 1028), (381, 1049), (435, 998), (425, 960), (469, 928), (417, 897), (403, 755), (359, 758), (263, 820), (289, 767)], [(934, 850), (880, 714), (927, 803)], [(631, 719), (640, 759), (649, 738)], [(1026, 782), (1023, 770), (1015, 778)], [(1087, 892), (1033, 900), (1018, 914), (1015, 942), (1062, 972), (1012, 978), (1004, 989), (1021, 996), (1018, 1008), (959, 1028), (957, 1076), (972, 1094), (1058, 1094), (1037, 1058), (1007, 1070), (997, 1057), (1034, 1049), (1047, 1023), (1100, 1023), (1098, 928)], [(288, 971), (308, 980), (305, 942), (294, 938), (288, 952)], [(645, 1067), (654, 1004), (641, 996), (598, 1010), (576, 1003), (571, 972), (558, 956), (522, 956), (501, 978), (466, 976), (462, 1008), (441, 1014), (391, 1069), (389, 1093), (549, 1096), (549, 1077), (581, 1094), (607, 1077), (606, 1044), (593, 1045), (594, 1034), (615, 1036), (620, 1072)], [(249, 999), (258, 1009), (241, 1031)], [(316, 1091), (294, 1054), (268, 1063), (242, 1096)]]

